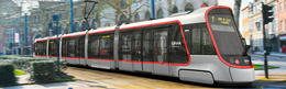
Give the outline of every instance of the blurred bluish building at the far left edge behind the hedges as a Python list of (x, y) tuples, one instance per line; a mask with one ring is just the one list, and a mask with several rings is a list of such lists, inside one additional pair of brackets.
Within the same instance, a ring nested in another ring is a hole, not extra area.
[[(19, 40), (21, 23), (21, 7), (12, 0), (1, 0), (0, 3), (0, 55), (18, 54), (21, 45), (15, 42)], [(14, 35), (16, 34), (16, 35)], [(16, 37), (15, 37), (16, 36)], [(21, 41), (21, 40), (19, 40)]]

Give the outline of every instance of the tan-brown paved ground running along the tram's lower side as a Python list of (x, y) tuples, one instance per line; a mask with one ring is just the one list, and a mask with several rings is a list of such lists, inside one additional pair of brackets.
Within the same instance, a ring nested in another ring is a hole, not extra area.
[(68, 75), (74, 76), (79, 82), (89, 82), (95, 88), (113, 89), (189, 89), (211, 88), (211, 86), (180, 81), (176, 78), (130, 75), (124, 71), (98, 70), (92, 68), (68, 67)]

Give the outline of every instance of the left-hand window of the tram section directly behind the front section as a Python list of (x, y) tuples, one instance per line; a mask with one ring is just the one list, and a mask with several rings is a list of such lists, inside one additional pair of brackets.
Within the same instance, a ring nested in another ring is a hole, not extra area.
[(89, 35), (88, 38), (88, 58), (96, 58), (99, 56), (99, 40), (96, 35)]

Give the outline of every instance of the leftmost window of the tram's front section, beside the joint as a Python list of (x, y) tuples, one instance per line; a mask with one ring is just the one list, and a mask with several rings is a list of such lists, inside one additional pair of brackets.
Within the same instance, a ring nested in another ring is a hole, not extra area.
[(120, 35), (120, 55), (121, 60), (132, 60), (132, 33), (127, 32)]

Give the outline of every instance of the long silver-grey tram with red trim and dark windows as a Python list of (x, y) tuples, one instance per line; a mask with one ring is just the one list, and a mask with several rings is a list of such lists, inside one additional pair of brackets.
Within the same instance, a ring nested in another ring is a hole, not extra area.
[(201, 84), (251, 84), (254, 68), (232, 10), (218, 5), (165, 19), (37, 38), (34, 56), (68, 64), (177, 77)]

